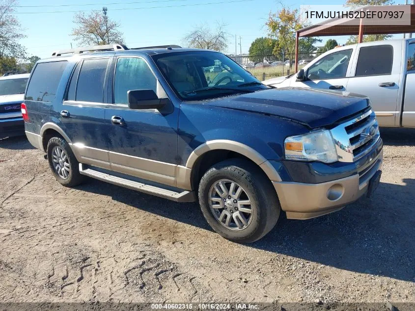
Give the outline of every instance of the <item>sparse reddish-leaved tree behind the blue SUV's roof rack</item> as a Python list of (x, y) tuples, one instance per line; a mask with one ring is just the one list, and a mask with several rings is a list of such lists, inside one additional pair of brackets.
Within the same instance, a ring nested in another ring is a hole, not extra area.
[(71, 35), (80, 45), (105, 45), (124, 43), (120, 25), (107, 16), (107, 11), (91, 11), (89, 14), (75, 14)]

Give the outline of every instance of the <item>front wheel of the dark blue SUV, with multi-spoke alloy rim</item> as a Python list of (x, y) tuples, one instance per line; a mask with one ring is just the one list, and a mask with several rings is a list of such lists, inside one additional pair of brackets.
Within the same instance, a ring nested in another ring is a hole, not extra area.
[(200, 180), (199, 202), (209, 225), (238, 243), (262, 238), (275, 226), (280, 211), (271, 182), (243, 159), (211, 167)]

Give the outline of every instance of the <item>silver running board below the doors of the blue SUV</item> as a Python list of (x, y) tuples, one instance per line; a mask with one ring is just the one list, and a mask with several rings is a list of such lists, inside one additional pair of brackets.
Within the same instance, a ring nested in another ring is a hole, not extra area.
[(110, 175), (92, 169), (83, 169), (83, 164), (79, 164), (79, 172), (81, 175), (92, 177), (101, 181), (108, 182), (113, 185), (121, 186), (124, 188), (136, 190), (149, 195), (157, 196), (160, 198), (166, 198), (176, 202), (194, 202), (196, 197), (194, 191), (184, 190), (183, 192), (174, 192), (164, 188), (159, 188), (151, 185), (146, 185), (138, 181), (129, 180), (117, 176)]

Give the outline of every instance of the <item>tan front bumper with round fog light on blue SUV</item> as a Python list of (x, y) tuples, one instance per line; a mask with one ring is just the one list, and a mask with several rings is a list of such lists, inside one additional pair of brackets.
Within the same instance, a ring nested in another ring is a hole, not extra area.
[(289, 219), (309, 219), (342, 209), (367, 192), (369, 180), (382, 169), (383, 150), (352, 176), (323, 183), (273, 182)]

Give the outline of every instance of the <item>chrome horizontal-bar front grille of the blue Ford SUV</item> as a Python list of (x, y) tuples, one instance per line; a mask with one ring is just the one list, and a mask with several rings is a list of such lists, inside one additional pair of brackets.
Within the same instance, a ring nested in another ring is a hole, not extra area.
[(379, 141), (375, 113), (369, 110), (331, 130), (340, 162), (354, 162), (369, 153)]

